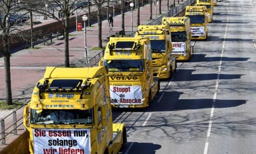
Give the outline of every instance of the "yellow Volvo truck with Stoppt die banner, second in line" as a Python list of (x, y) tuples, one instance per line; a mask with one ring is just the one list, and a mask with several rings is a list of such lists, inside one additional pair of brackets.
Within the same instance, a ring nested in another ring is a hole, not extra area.
[(159, 92), (148, 37), (110, 37), (99, 65), (108, 69), (113, 107), (145, 108)]

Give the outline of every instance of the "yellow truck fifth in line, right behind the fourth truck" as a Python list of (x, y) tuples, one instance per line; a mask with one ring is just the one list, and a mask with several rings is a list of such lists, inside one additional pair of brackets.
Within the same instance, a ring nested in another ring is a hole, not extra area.
[(208, 13), (205, 6), (187, 6), (185, 16), (191, 22), (191, 40), (207, 40)]

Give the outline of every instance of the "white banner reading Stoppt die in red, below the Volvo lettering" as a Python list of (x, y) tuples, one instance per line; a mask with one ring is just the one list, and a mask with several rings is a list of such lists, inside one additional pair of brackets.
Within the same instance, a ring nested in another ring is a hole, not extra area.
[(141, 86), (110, 86), (112, 104), (142, 104)]

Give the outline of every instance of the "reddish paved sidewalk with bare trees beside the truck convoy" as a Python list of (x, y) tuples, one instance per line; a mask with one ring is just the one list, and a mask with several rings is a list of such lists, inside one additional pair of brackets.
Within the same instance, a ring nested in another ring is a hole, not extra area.
[[(172, 1), (173, 3), (173, 1)], [(183, 3), (183, 2), (181, 2)], [(162, 14), (167, 12), (167, 1), (162, 1)], [(177, 6), (177, 4), (176, 4)], [(158, 14), (157, 6), (157, 17)], [(155, 19), (154, 4), (152, 8), (152, 18)], [(150, 23), (150, 5), (140, 7), (140, 25)], [(125, 13), (125, 32), (131, 33), (131, 11)], [(133, 31), (137, 30), (137, 10), (133, 10)], [(112, 33), (108, 31), (107, 20), (102, 21), (102, 40), (106, 37), (121, 31), (121, 15), (114, 17), (114, 29)], [(98, 23), (92, 27), (86, 27), (86, 41), (88, 47), (89, 59), (96, 56), (101, 50), (92, 50), (92, 47), (98, 46)], [(102, 42), (106, 46), (107, 42)], [(11, 89), (13, 99), (24, 101), (30, 100), (32, 90), (36, 82), (44, 75), (46, 66), (64, 66), (64, 40), (54, 40), (53, 44), (44, 46), (40, 44), (37, 49), (25, 49), (11, 54)], [(72, 31), (69, 33), (69, 62), (71, 66), (85, 67), (84, 58), (84, 31)], [(5, 73), (3, 58), (0, 58), (0, 100), (5, 99)], [(0, 118), (5, 117), (12, 112), (11, 110), (1, 110)], [(17, 114), (22, 117), (22, 112)], [(22, 126), (23, 127), (23, 126)], [(0, 130), (1, 131), (1, 130)], [(22, 132), (21, 132), (22, 133)], [(15, 137), (8, 137), (6, 143), (9, 144)], [(1, 146), (0, 146), (1, 151)]]

